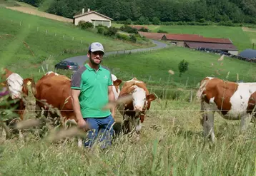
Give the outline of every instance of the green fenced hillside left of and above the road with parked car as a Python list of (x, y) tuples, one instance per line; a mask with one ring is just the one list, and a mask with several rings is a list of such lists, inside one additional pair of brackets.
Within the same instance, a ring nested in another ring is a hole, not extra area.
[(49, 57), (53, 64), (69, 56), (84, 55), (93, 41), (101, 42), (106, 51), (147, 47), (3, 7), (0, 16), (0, 24), (4, 24), (0, 25), (0, 67), (9, 66), (14, 71), (19, 69), (16, 66), (38, 71), (41, 62)]

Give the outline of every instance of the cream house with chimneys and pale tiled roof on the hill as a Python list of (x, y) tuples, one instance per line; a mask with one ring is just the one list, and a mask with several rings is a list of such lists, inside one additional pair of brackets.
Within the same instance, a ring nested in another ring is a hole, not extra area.
[(90, 11), (90, 9), (88, 9), (85, 13), (84, 9), (82, 9), (82, 14), (73, 16), (73, 24), (76, 26), (79, 24), (79, 21), (88, 21), (94, 24), (94, 27), (98, 26), (99, 24), (110, 27), (112, 20), (113, 19), (109, 18), (108, 16), (99, 14), (97, 11)]

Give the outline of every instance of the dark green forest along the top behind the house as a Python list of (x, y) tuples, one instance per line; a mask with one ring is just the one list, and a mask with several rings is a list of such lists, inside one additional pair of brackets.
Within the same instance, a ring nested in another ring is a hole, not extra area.
[[(19, 0), (40, 6), (49, 0)], [(92, 9), (114, 21), (160, 24), (197, 21), (256, 24), (255, 0), (51, 0), (46, 12), (67, 18)]]

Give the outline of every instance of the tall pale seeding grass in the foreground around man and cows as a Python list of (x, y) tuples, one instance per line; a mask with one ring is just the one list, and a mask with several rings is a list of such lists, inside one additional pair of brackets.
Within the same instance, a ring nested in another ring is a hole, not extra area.
[[(216, 115), (217, 143), (204, 145), (198, 102), (160, 100), (150, 110), (140, 136), (119, 136), (107, 150), (79, 149), (75, 140), (48, 143), (30, 133), (25, 144), (0, 140), (0, 175), (254, 175), (252, 125), (240, 134), (239, 121)], [(115, 129), (120, 120), (117, 113)]]

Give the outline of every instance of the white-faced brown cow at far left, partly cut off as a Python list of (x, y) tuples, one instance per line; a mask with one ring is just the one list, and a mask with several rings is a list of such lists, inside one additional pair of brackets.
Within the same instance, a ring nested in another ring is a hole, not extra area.
[[(1, 82), (1, 91), (0, 98), (6, 98), (6, 101), (9, 102), (9, 105), (1, 105), (1, 109), (8, 109), (13, 108), (14, 113), (18, 115), (19, 120), (24, 119), (24, 111), (26, 108), (26, 104), (24, 102), (24, 98), (26, 98), (29, 95), (29, 89), (28, 86), (31, 84), (34, 84), (34, 81), (32, 78), (26, 78), (23, 79), (18, 73), (13, 73), (12, 71), (9, 71), (7, 68), (4, 68), (4, 74), (1, 75), (1, 79), (3, 82)], [(18, 120), (18, 121), (19, 121)], [(9, 120), (6, 120), (6, 125), (13, 126), (17, 120), (14, 120), (13, 118), (9, 118)], [(10, 124), (11, 123), (11, 124)], [(9, 133), (6, 133), (6, 135)], [(6, 138), (10, 138), (11, 136), (6, 136)]]

